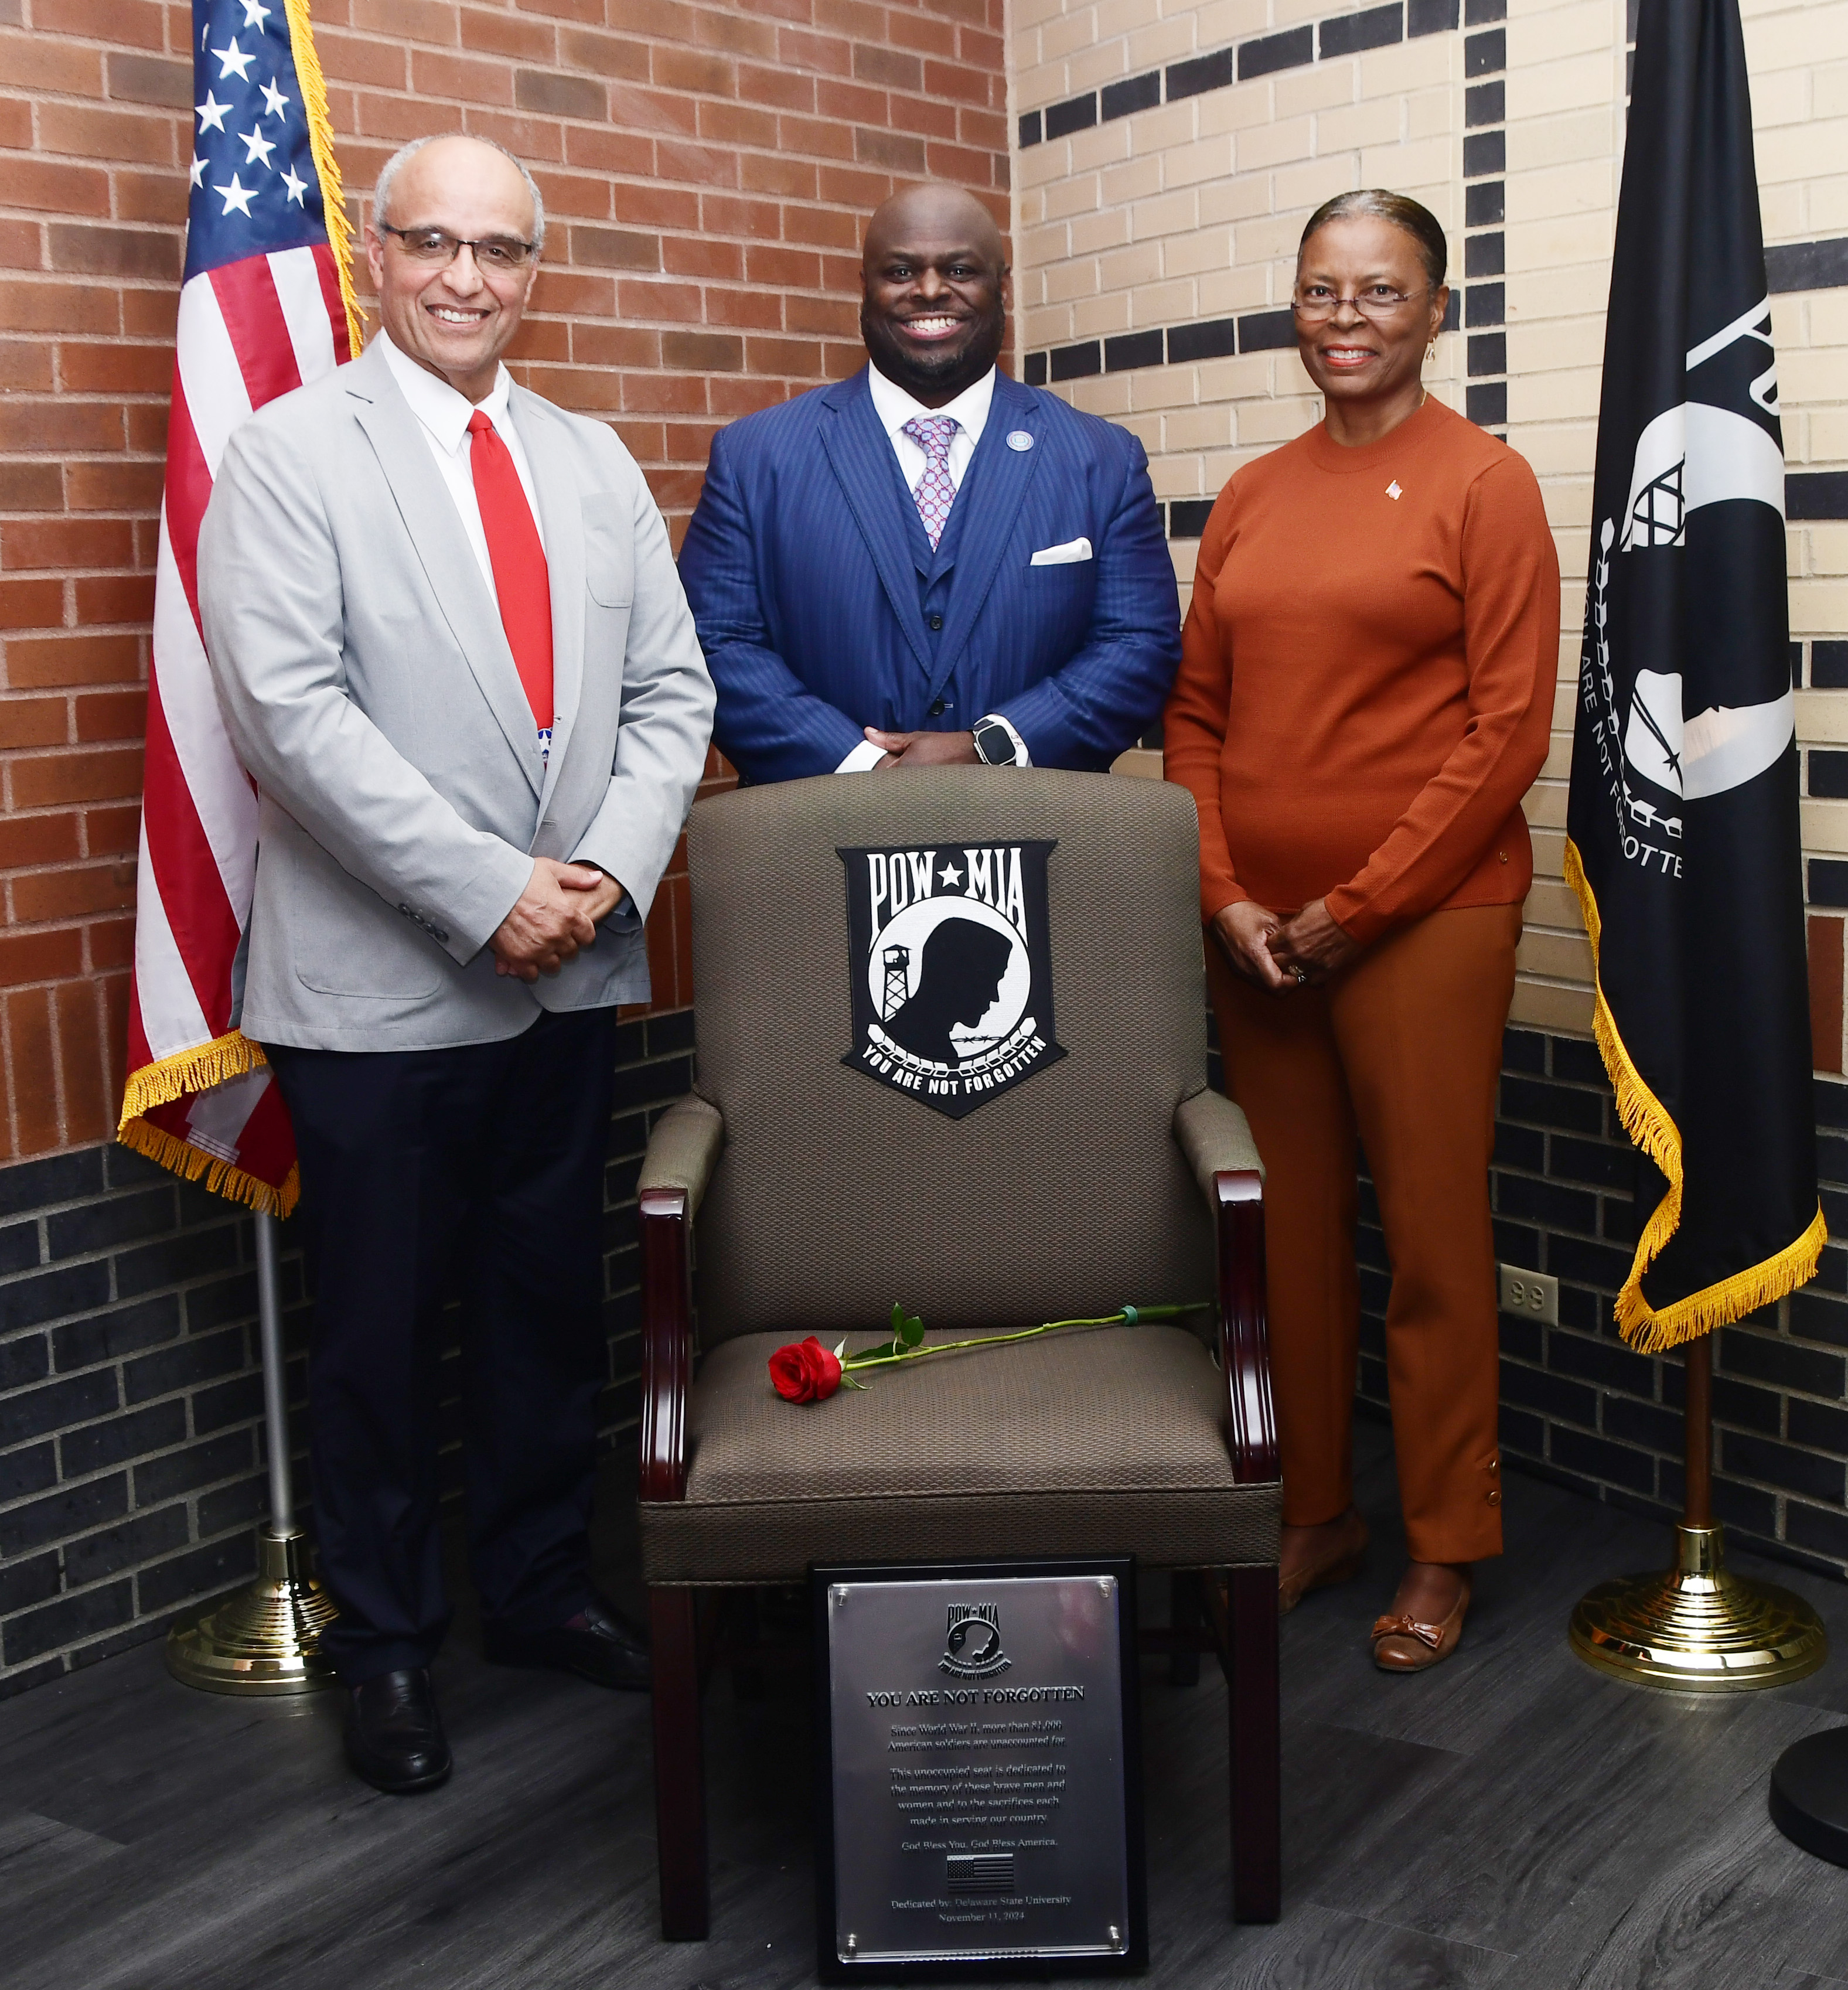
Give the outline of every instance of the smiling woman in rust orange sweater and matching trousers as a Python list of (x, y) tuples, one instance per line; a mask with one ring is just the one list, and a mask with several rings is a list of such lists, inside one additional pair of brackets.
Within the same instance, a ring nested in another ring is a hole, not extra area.
[(1293, 310), (1323, 420), (1219, 494), (1164, 730), (1200, 804), (1227, 1091), (1267, 1168), (1285, 1610), (1367, 1546), (1357, 1134), (1379, 1190), (1410, 1548), (1373, 1628), (1392, 1672), (1448, 1658), (1470, 1564), (1502, 1552), (1488, 1160), (1560, 663), (1534, 472), (1420, 384), (1444, 257), (1402, 195), (1311, 217)]

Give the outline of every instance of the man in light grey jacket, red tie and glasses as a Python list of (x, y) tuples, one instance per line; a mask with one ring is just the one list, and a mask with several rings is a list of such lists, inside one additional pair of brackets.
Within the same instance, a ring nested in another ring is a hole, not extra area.
[(545, 213), (497, 145), (424, 139), (366, 231), (382, 336), (225, 450), (199, 603), (261, 790), (241, 1025), (288, 1102), (316, 1276), (308, 1413), (346, 1747), (450, 1751), (440, 1311), (491, 1660), (647, 1684), (591, 1588), (617, 1003), (706, 760), (712, 683), (666, 529), (599, 422), (501, 354)]

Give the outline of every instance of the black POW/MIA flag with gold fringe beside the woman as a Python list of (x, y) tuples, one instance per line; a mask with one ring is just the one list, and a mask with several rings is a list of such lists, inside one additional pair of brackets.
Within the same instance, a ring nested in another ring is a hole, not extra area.
[(1617, 1110), (1665, 1178), (1617, 1299), (1645, 1351), (1802, 1286), (1826, 1240), (1788, 633), (1739, 0), (1643, 0), (1566, 876)]

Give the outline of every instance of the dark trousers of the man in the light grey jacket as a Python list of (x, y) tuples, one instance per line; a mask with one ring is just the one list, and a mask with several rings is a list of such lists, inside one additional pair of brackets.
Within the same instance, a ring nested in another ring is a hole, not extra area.
[(615, 1009), (541, 1011), (507, 1043), (452, 1051), (265, 1047), (302, 1166), (314, 1536), (348, 1684), (428, 1666), (450, 1626), (436, 1506), (452, 1292), (481, 1614), (539, 1632), (591, 1600), (615, 1027)]

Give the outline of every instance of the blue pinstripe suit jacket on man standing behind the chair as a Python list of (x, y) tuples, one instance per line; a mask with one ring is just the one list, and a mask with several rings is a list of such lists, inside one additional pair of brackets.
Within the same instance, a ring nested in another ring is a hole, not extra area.
[[(1009, 448), (1022, 430), (1032, 448)], [(1092, 559), (1030, 565), (1080, 537)], [(680, 579), (718, 685), (714, 740), (758, 782), (833, 772), (861, 726), (953, 732), (985, 712), (1034, 766), (1104, 768), (1180, 665), (1142, 444), (1007, 374), (937, 555), (861, 370), (714, 438)]]

